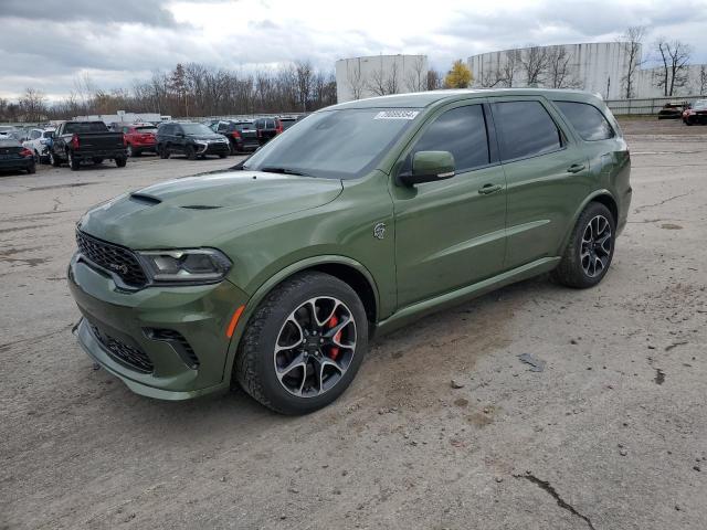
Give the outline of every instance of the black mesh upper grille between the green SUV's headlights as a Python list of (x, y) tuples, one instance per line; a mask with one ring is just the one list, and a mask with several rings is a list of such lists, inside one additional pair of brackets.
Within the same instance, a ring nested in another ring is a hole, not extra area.
[(126, 285), (143, 287), (147, 284), (145, 271), (131, 251), (92, 237), (80, 230), (76, 231), (76, 244), (83, 256), (117, 274)]

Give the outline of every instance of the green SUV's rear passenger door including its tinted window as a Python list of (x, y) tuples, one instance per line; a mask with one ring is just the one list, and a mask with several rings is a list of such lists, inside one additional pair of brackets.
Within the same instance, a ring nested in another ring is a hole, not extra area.
[(490, 98), (507, 181), (505, 269), (561, 253), (589, 191), (589, 161), (557, 110), (539, 96)]

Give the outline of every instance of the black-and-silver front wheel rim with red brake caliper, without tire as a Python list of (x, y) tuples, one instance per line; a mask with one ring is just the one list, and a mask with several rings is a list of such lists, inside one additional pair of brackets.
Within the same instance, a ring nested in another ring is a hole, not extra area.
[(297, 398), (317, 398), (344, 378), (356, 353), (356, 320), (341, 300), (321, 296), (285, 319), (273, 353), (275, 375)]

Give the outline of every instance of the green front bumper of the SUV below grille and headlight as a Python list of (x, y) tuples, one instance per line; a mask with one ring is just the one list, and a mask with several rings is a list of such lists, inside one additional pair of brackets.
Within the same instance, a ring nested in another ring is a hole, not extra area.
[[(83, 315), (77, 327), (82, 348), (134, 392), (163, 400), (186, 400), (226, 390), (226, 329), (246, 295), (228, 280), (217, 285), (120, 289), (112, 276), (75, 255), (68, 286)], [(186, 360), (175, 342), (155, 338), (155, 330), (181, 336), (197, 358)], [(147, 364), (136, 365), (116, 354), (110, 343), (141, 352)], [(190, 365), (191, 364), (191, 365)]]

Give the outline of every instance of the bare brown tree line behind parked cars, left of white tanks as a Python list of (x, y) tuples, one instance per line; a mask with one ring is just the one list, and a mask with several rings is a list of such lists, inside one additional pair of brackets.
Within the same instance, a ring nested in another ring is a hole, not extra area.
[(315, 68), (309, 61), (252, 73), (189, 63), (155, 72), (130, 88), (106, 91), (89, 76), (80, 76), (66, 97), (51, 103), (41, 91), (27, 88), (17, 102), (0, 98), (0, 120), (70, 119), (124, 109), (176, 117), (303, 113), (334, 104), (334, 74)]

